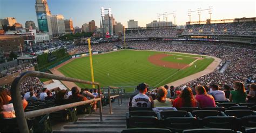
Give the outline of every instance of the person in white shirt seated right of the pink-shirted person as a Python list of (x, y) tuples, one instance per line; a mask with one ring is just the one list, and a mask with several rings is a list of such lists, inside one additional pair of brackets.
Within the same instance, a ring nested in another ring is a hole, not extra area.
[(211, 94), (213, 96), (213, 98), (215, 99), (215, 101), (225, 101), (226, 97), (225, 97), (225, 92), (224, 91), (220, 91), (219, 90), (219, 86), (217, 84), (212, 84), (211, 86)]

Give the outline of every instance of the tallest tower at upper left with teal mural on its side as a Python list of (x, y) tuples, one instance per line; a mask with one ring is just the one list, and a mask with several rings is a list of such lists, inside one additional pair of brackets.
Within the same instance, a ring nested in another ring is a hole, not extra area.
[(51, 15), (51, 12), (48, 8), (47, 0), (36, 0), (35, 8), (39, 31), (49, 32), (47, 16)]

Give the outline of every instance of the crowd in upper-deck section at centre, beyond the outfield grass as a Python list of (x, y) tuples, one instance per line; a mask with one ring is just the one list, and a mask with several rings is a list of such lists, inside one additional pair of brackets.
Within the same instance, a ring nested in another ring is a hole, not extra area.
[(125, 32), (125, 38), (174, 38), (177, 36), (177, 29), (173, 27), (134, 29)]

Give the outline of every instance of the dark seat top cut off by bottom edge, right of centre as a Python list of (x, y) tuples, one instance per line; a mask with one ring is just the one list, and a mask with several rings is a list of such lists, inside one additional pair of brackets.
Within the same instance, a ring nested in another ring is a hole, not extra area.
[(218, 128), (203, 128), (203, 129), (187, 129), (184, 130), (183, 133), (235, 133), (234, 130), (231, 129), (218, 129)]

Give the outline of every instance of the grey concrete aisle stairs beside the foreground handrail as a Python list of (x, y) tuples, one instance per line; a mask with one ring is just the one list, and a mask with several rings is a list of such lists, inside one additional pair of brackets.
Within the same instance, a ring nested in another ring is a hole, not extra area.
[(99, 109), (97, 112), (92, 114), (85, 114), (78, 117), (78, 121), (69, 122), (63, 125), (62, 129), (59, 131), (54, 130), (54, 133), (66, 133), (66, 132), (86, 132), (86, 133), (96, 133), (96, 132), (120, 132), (126, 129), (126, 112), (128, 112), (128, 102), (123, 100), (123, 104), (118, 106), (118, 100), (112, 102), (112, 114), (109, 113), (109, 105), (104, 106), (103, 110), (103, 121), (100, 122)]

